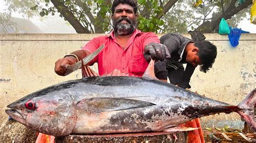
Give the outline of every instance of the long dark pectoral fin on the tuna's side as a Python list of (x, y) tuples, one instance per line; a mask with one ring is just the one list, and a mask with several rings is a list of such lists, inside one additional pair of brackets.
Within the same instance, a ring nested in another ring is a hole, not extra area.
[(145, 106), (156, 105), (150, 102), (138, 101), (134, 99), (126, 98), (108, 98), (108, 97), (96, 97), (83, 99), (76, 104), (76, 108), (79, 110), (86, 110), (88, 112), (107, 112), (118, 111), (132, 108), (142, 108)]

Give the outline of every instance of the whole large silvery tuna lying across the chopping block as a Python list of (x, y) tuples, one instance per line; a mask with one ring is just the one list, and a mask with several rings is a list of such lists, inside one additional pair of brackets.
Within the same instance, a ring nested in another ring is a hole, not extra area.
[(6, 113), (45, 134), (163, 131), (194, 118), (237, 112), (256, 131), (254, 89), (238, 106), (147, 77), (72, 80), (33, 92)]

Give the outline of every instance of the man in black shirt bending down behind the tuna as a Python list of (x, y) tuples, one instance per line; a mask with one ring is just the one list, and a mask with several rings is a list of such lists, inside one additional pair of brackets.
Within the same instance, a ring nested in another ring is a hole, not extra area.
[[(155, 63), (155, 74), (159, 80), (167, 80), (181, 88), (191, 88), (189, 82), (194, 69), (206, 73), (212, 68), (217, 56), (217, 48), (209, 41), (193, 41), (177, 33), (168, 33), (160, 38), (161, 44), (169, 49), (171, 58)], [(186, 63), (184, 70), (183, 63)]]

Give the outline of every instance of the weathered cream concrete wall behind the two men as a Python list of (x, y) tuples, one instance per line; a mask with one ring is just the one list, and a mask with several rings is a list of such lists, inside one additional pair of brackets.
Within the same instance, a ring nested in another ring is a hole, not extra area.
[[(0, 35), (0, 123), (8, 116), (6, 105), (33, 91), (81, 78), (80, 70), (66, 77), (55, 74), (55, 61), (101, 34), (10, 34)], [(190, 38), (189, 34), (184, 34)], [(161, 35), (159, 35), (160, 37)], [(227, 35), (205, 34), (218, 47), (217, 59), (208, 73), (197, 68), (192, 91), (237, 105), (255, 88), (256, 34), (242, 34), (239, 46), (231, 47)], [(241, 127), (237, 113), (202, 118), (205, 126)], [(207, 121), (207, 122), (206, 122)]]

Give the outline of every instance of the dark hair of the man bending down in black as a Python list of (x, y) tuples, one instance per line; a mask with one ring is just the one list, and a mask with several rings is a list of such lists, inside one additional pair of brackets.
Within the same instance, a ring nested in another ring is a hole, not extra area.
[(200, 71), (206, 73), (212, 68), (212, 64), (217, 56), (217, 47), (209, 41), (197, 41), (194, 46), (198, 47), (198, 53), (201, 60)]

